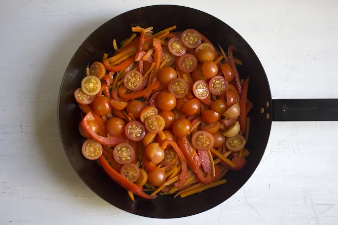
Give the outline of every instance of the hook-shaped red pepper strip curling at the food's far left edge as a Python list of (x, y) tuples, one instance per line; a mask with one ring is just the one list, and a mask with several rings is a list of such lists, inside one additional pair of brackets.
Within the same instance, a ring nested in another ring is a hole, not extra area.
[(116, 146), (122, 142), (126, 142), (125, 137), (114, 137), (108, 134), (108, 137), (102, 137), (92, 131), (90, 126), (88, 125), (88, 121), (94, 120), (94, 117), (91, 113), (88, 113), (85, 117), (82, 119), (82, 127), (85, 131), (92, 137), (92, 139), (98, 141), (101, 145), (113, 147)]

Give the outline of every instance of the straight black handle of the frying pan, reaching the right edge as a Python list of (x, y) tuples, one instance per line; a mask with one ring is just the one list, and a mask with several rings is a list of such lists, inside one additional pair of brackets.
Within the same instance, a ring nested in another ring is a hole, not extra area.
[(273, 99), (273, 121), (338, 121), (338, 99)]

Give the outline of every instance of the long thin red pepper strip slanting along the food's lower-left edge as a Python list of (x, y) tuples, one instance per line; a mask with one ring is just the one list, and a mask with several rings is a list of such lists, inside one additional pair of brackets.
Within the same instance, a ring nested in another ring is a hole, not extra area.
[(122, 188), (133, 192), (134, 194), (142, 197), (142, 198), (146, 198), (146, 199), (154, 199), (157, 197), (157, 195), (147, 195), (146, 193), (144, 193), (142, 191), (142, 188), (135, 185), (135, 183), (130, 182), (129, 180), (127, 180), (126, 178), (124, 178), (121, 174), (119, 174), (117, 171), (115, 171), (114, 169), (112, 169), (109, 165), (109, 162), (107, 161), (107, 159), (101, 155), (100, 158), (100, 163), (101, 166), (103, 168), (103, 170), (108, 174), (108, 176), (113, 179), (115, 182), (117, 182)]

